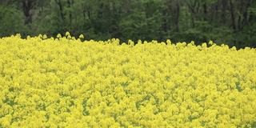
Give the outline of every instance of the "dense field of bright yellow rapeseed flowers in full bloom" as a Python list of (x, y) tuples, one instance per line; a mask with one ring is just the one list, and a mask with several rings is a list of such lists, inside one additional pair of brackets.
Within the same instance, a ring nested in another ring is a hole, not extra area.
[(255, 49), (82, 38), (0, 38), (0, 127), (256, 126)]

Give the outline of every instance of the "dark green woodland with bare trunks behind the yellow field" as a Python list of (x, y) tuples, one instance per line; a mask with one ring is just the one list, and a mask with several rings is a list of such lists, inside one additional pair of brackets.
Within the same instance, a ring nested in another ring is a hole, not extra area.
[(87, 39), (256, 47), (254, 0), (2, 0), (0, 37), (70, 31)]

